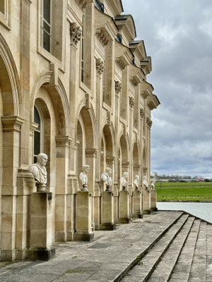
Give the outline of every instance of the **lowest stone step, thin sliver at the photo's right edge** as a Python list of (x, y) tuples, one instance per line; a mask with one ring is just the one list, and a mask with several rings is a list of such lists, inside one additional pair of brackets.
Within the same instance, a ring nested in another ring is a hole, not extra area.
[(212, 281), (212, 224), (207, 223), (206, 282)]

